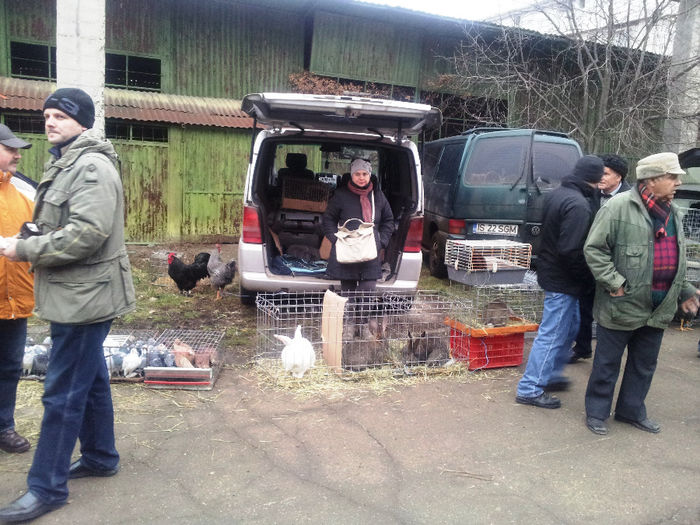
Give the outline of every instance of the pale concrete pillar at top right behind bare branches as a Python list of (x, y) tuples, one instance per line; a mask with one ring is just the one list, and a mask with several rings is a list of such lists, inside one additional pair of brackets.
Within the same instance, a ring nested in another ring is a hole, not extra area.
[[(682, 74), (669, 88), (670, 111), (664, 123), (666, 151), (680, 153), (698, 146), (700, 133), (700, 1), (680, 0), (673, 40), (671, 78)], [(694, 63), (694, 67), (689, 65)], [(686, 115), (683, 118), (683, 115)]]

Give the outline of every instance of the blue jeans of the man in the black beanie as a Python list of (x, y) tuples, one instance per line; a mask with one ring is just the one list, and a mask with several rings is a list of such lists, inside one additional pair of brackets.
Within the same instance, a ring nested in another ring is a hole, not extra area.
[(27, 485), (47, 504), (68, 499), (68, 469), (80, 438), (81, 461), (115, 469), (114, 410), (102, 344), (112, 321), (51, 323), (53, 347), (44, 382), (44, 418)]

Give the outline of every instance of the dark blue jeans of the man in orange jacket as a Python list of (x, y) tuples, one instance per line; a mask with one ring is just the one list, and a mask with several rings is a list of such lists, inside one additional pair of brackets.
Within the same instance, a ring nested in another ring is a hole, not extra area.
[(0, 432), (15, 428), (17, 383), (26, 339), (26, 319), (0, 319)]

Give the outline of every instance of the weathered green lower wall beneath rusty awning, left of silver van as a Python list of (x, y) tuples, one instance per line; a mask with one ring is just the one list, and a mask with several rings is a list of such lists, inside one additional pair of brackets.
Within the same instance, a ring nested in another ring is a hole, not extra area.
[[(38, 181), (49, 159), (43, 135), (22, 134), (19, 171)], [(236, 240), (250, 132), (171, 128), (168, 144), (114, 140), (122, 162), (126, 237), (132, 242)]]

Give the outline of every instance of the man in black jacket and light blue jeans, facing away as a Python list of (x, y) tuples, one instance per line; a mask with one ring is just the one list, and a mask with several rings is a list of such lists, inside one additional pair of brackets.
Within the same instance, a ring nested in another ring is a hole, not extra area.
[(603, 168), (599, 157), (581, 157), (545, 201), (537, 261), (537, 280), (545, 290), (544, 310), (518, 383), (518, 403), (559, 408), (559, 399), (548, 391), (568, 388), (569, 380), (562, 372), (579, 329), (578, 297), (594, 287), (583, 258), (583, 243), (593, 222)]

